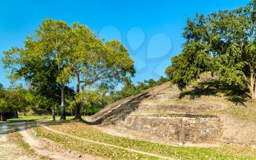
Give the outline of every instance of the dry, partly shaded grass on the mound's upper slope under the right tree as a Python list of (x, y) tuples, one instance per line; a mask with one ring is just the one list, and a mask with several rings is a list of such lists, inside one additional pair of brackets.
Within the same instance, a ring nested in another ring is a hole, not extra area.
[[(204, 76), (210, 76), (208, 73)], [(212, 96), (213, 101), (222, 102), (227, 105), (224, 110), (209, 110), (207, 112), (198, 113), (200, 115), (218, 115), (227, 114), (233, 115), (234, 118), (243, 121), (249, 121), (256, 123), (256, 103), (250, 102), (249, 93), (245, 90), (241, 90), (237, 86), (225, 86), (219, 80), (214, 80), (212, 82), (192, 82), (195, 88), (184, 88), (181, 91), (181, 99), (170, 99), (164, 102), (155, 103), (160, 104), (183, 104), (189, 105), (192, 102), (197, 102), (196, 100), (184, 99), (184, 96), (192, 96), (197, 100), (204, 100), (201, 96)], [(166, 91), (174, 91), (173, 88), (167, 88)], [(209, 99), (207, 99), (208, 101)], [(153, 102), (154, 103), (154, 102)]]

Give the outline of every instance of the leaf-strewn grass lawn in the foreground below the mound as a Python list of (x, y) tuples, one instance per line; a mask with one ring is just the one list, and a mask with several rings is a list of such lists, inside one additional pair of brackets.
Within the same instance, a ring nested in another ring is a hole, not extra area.
[[(105, 134), (83, 123), (59, 123), (59, 125), (50, 126), (50, 128), (87, 140), (105, 142), (124, 148), (155, 153), (161, 156), (170, 156), (175, 159), (256, 159), (256, 151), (252, 148), (241, 149), (237, 147), (236, 149), (233, 149), (232, 145), (225, 145), (219, 148), (162, 145), (143, 140), (133, 140), (127, 137), (117, 137), (110, 134)], [(100, 156), (106, 159), (156, 159), (156, 157), (131, 153), (113, 147), (96, 145), (89, 142), (81, 142), (80, 140), (75, 140), (72, 137), (49, 132), (46, 129), (40, 129), (39, 131), (43, 137), (60, 142), (63, 145), (66, 145), (68, 148), (94, 156)]]

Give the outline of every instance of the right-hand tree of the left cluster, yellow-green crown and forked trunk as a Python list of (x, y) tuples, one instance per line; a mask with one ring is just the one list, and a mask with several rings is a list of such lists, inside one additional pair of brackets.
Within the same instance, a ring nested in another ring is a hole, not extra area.
[(80, 86), (87, 88), (114, 88), (129, 75), (135, 74), (128, 50), (117, 40), (102, 42), (91, 30), (78, 23), (72, 25), (70, 33), (72, 53), (69, 64), (76, 80), (75, 118), (82, 114)]

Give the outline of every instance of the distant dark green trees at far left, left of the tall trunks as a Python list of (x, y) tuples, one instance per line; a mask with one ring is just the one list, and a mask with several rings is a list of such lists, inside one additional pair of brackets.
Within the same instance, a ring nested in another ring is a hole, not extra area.
[[(66, 91), (67, 99), (74, 99), (75, 92), (69, 88)], [(7, 121), (7, 118), (18, 117), (18, 112), (26, 115), (28, 111), (37, 113), (38, 109), (45, 110), (44, 113), (51, 113), (53, 107), (58, 115), (61, 114), (60, 95), (56, 93), (56, 101), (53, 102), (48, 96), (33, 91), (33, 88), (23, 88), (22, 85), (4, 88), (0, 83), (0, 121)], [(70, 113), (69, 113), (70, 114)]]

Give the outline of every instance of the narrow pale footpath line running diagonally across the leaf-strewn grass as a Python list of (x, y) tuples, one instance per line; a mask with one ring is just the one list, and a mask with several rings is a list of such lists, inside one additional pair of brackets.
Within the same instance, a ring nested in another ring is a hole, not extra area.
[(104, 143), (104, 142), (97, 142), (97, 141), (94, 141), (94, 140), (86, 140), (86, 139), (83, 139), (83, 138), (80, 138), (80, 137), (75, 137), (73, 135), (70, 135), (70, 134), (66, 134), (64, 132), (59, 132), (59, 131), (56, 131), (54, 129), (50, 129), (48, 126), (43, 126), (45, 129), (48, 129), (49, 131), (51, 132), (55, 132), (57, 134), (62, 134), (62, 135), (65, 135), (65, 136), (68, 136), (68, 137), (72, 137), (72, 138), (75, 138), (77, 140), (82, 140), (82, 141), (86, 141), (86, 142), (92, 142), (92, 143), (96, 143), (98, 145), (105, 145), (105, 146), (110, 146), (110, 147), (113, 147), (113, 148), (119, 148), (119, 149), (122, 149), (122, 150), (125, 150), (125, 151), (130, 151), (130, 152), (134, 152), (134, 153), (140, 153), (140, 154), (144, 154), (144, 155), (147, 155), (147, 156), (154, 156), (154, 157), (157, 157), (159, 159), (172, 159), (170, 157), (167, 157), (167, 156), (161, 156), (161, 155), (157, 155), (157, 154), (154, 154), (154, 153), (147, 153), (147, 152), (143, 152), (143, 151), (137, 151), (137, 150), (134, 150), (134, 149), (130, 149), (130, 148), (123, 148), (123, 147), (119, 147), (117, 145), (110, 145), (108, 143)]

